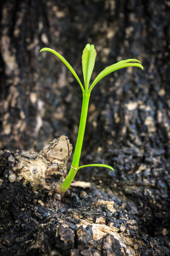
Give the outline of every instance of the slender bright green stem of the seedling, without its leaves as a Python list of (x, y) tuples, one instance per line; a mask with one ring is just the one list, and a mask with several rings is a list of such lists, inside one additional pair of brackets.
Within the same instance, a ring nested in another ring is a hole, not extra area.
[(87, 113), (88, 113), (88, 103), (90, 99), (90, 93), (83, 92), (82, 96), (83, 96), (82, 112), (80, 117), (79, 131), (78, 131), (77, 142), (76, 142), (76, 147), (75, 147), (74, 156), (73, 156), (73, 162), (67, 177), (65, 178), (64, 182), (60, 187), (61, 194), (67, 191), (67, 189), (69, 188), (71, 182), (73, 181), (77, 173), (77, 168), (79, 167), (79, 159), (82, 151), (82, 142), (85, 134), (85, 124), (86, 124)]

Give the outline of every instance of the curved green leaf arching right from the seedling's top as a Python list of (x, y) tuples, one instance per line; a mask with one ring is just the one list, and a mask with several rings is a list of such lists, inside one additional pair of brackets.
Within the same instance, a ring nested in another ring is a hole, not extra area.
[[(129, 63), (130, 61), (136, 61), (139, 63)], [(140, 67), (143, 70), (143, 66), (141, 65), (141, 62), (136, 59), (128, 59), (125, 61), (119, 61), (109, 67), (106, 67), (104, 70), (102, 70), (102, 72), (99, 73), (99, 75), (96, 77), (96, 79), (94, 79), (93, 83), (91, 84), (91, 87), (89, 88), (89, 93), (91, 93), (91, 90), (93, 89), (93, 87), (99, 80), (101, 80), (103, 77), (107, 76), (111, 72), (113, 72), (115, 70), (119, 70), (123, 67)]]

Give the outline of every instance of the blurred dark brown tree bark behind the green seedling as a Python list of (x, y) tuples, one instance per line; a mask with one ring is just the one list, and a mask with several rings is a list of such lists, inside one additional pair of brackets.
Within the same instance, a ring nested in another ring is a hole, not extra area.
[[(1, 149), (40, 151), (62, 134), (75, 146), (81, 88), (55, 55), (39, 53), (42, 47), (62, 54), (81, 81), (87, 43), (94, 44), (97, 52), (92, 79), (122, 59), (142, 62), (143, 71), (118, 70), (94, 87), (81, 164), (113, 166), (113, 173), (93, 169), (92, 180), (131, 198), (129, 207), (142, 230), (162, 236), (165, 228), (166, 236), (170, 1), (2, 0), (0, 31)], [(91, 169), (77, 177), (88, 180), (89, 176)]]

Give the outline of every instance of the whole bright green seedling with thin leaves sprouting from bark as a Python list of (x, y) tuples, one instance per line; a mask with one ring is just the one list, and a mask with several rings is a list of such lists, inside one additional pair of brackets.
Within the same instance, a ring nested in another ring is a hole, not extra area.
[[(82, 89), (82, 112), (81, 112), (81, 117), (80, 117), (80, 123), (79, 123), (79, 131), (78, 131), (78, 136), (77, 136), (77, 143), (76, 147), (74, 150), (74, 156), (73, 156), (73, 161), (72, 165), (70, 168), (70, 171), (63, 181), (63, 183), (60, 186), (60, 193), (63, 194), (67, 191), (69, 188), (71, 182), (73, 181), (77, 171), (81, 168), (88, 167), (88, 166), (98, 166), (98, 167), (106, 167), (109, 168), (113, 171), (113, 167), (105, 165), (105, 164), (88, 164), (88, 165), (83, 165), (79, 166), (79, 159), (82, 151), (82, 142), (84, 138), (84, 133), (85, 133), (85, 124), (86, 124), (86, 119), (87, 119), (87, 113), (88, 113), (88, 103), (91, 95), (91, 90), (94, 88), (96, 83), (100, 81), (103, 77), (107, 76), (111, 72), (115, 70), (119, 70), (123, 67), (140, 67), (143, 70), (142, 64), (140, 61), (136, 59), (128, 59), (125, 61), (119, 61), (109, 67), (106, 67), (102, 72), (99, 73), (98, 76), (96, 76), (96, 79), (92, 82), (92, 84), (89, 86), (89, 82), (91, 79), (91, 74), (94, 69), (94, 63), (96, 59), (96, 50), (94, 48), (94, 45), (87, 44), (85, 49), (83, 50), (82, 54), (82, 72), (83, 72), (83, 77), (84, 77), (84, 86), (82, 85), (79, 77), (77, 76), (76, 72), (74, 69), (71, 67), (71, 65), (68, 63), (68, 61), (65, 60), (62, 55), (60, 55), (58, 52), (54, 51), (53, 49), (50, 48), (43, 48), (40, 50), (42, 51), (48, 51), (52, 52), (57, 57), (64, 62), (64, 64), (68, 67), (68, 69), (71, 71), (71, 73), (74, 75), (74, 77), (77, 79), (81, 89)], [(133, 63), (133, 62), (135, 63)], [(137, 62), (137, 63), (136, 63)]]

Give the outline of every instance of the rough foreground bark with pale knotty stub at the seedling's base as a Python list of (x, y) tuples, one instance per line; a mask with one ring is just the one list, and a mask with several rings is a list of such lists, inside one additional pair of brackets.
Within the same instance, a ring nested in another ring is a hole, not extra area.
[[(65, 147), (63, 140), (59, 146)], [(46, 148), (41, 152), (44, 151)], [(141, 231), (136, 221), (139, 209), (131, 200), (116, 195), (103, 184), (96, 187), (88, 182), (74, 182), (60, 201), (55, 187), (65, 173), (66, 163), (64, 157), (54, 169), (60, 158), (58, 153), (55, 162), (47, 163), (42, 153), (0, 152), (0, 255), (170, 253), (160, 242), (160, 234), (153, 239)], [(166, 228), (162, 235), (167, 235)]]

